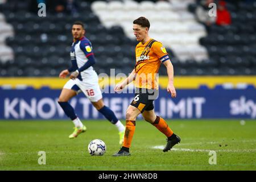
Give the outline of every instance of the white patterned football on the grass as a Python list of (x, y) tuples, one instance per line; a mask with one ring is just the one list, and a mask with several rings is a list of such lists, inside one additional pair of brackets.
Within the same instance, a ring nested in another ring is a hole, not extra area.
[(106, 152), (106, 144), (100, 139), (94, 139), (88, 145), (90, 155), (104, 155)]

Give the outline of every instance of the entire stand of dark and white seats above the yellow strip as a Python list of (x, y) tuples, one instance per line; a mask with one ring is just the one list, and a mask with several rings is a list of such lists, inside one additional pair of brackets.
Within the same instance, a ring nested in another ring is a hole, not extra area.
[[(207, 32), (195, 20), (193, 0), (76, 2), (77, 13), (47, 13), (45, 18), (31, 11), (27, 0), (0, 5), (0, 76), (58, 76), (71, 65), (75, 20), (85, 23), (96, 71), (109, 74), (115, 68), (115, 73), (128, 74), (137, 44), (132, 21), (141, 15), (150, 19), (150, 35), (167, 47), (175, 75), (256, 75), (256, 3), (229, 2), (232, 24), (213, 25)], [(159, 73), (166, 75), (163, 65)]]

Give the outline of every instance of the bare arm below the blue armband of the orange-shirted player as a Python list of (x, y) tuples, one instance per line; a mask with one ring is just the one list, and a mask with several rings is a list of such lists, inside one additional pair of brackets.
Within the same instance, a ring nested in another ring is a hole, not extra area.
[(167, 92), (171, 93), (172, 97), (176, 97), (176, 90), (174, 87), (174, 66), (172, 65), (170, 59), (164, 61), (163, 63), (166, 66), (167, 69), (167, 75), (168, 75), (168, 86), (167, 86)]

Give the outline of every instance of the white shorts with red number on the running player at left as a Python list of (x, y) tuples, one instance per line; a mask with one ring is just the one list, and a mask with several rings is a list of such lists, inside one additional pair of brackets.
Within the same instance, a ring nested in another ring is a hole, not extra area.
[(83, 92), (91, 102), (97, 102), (102, 98), (101, 89), (97, 81), (83, 82), (76, 78), (75, 80), (68, 80), (63, 88), (75, 90), (77, 94)]

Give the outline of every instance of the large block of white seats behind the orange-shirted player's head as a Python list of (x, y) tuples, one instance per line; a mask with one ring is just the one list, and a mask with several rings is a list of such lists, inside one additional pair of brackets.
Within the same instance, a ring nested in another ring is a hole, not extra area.
[(104, 26), (120, 25), (131, 39), (134, 39), (133, 20), (145, 16), (151, 23), (150, 36), (172, 48), (180, 61), (201, 61), (208, 59), (207, 50), (198, 43), (206, 32), (204, 26), (187, 11), (189, 2), (193, 1), (95, 1), (92, 9)]

